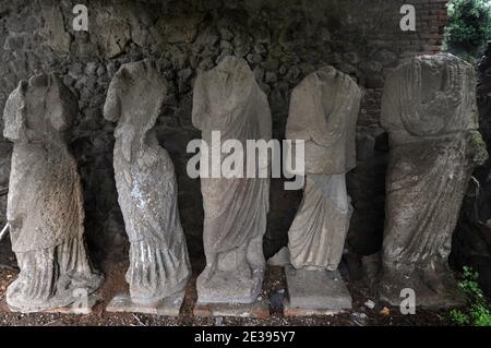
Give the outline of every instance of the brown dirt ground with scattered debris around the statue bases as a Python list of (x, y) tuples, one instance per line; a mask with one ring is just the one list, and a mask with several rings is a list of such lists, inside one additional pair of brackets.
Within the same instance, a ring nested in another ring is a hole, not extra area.
[[(10, 252), (8, 243), (0, 244), (0, 326), (29, 325), (29, 326), (65, 326), (65, 325), (128, 325), (128, 326), (173, 326), (173, 325), (239, 325), (239, 326), (441, 326), (445, 325), (447, 311), (418, 310), (416, 315), (403, 315), (397, 308), (385, 308), (379, 303), (363, 284), (350, 284), (348, 288), (352, 295), (354, 309), (350, 312), (333, 316), (285, 317), (278, 305), (285, 296), (285, 276), (283, 268), (268, 267), (265, 275), (263, 296), (271, 302), (271, 316), (265, 320), (237, 319), (237, 317), (195, 317), (192, 309), (196, 301), (195, 278), (200, 265), (193, 265), (194, 272), (188, 285), (187, 296), (179, 317), (167, 317), (147, 314), (108, 313), (105, 307), (116, 295), (128, 289), (124, 273), (128, 265), (124, 262), (117, 264), (103, 264), (106, 281), (97, 295), (101, 301), (89, 315), (60, 314), (60, 313), (12, 313), (5, 303), (5, 290), (19, 273), (14, 254)], [(368, 300), (375, 302), (373, 309), (364, 305)], [(363, 313), (367, 315), (363, 319)]]

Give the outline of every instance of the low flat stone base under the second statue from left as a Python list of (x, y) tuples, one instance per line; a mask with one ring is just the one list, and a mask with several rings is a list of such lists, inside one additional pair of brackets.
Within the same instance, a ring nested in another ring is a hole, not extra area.
[(153, 315), (179, 316), (182, 302), (184, 301), (185, 291), (182, 290), (158, 302), (154, 303), (135, 303), (131, 300), (129, 293), (116, 296), (107, 305), (107, 312), (130, 312)]

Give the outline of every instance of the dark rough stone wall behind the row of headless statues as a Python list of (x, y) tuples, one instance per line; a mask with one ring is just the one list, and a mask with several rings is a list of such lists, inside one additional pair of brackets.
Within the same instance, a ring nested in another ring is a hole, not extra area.
[[(75, 3), (88, 8), (88, 32), (72, 28)], [(416, 7), (416, 32), (399, 28), (404, 3)], [(357, 128), (358, 168), (348, 179), (356, 211), (347, 245), (355, 255), (370, 254), (380, 249), (384, 219), (387, 145), (379, 125), (384, 76), (405, 57), (440, 50), (445, 3), (1, 0), (0, 108), (19, 81), (33, 72), (63, 75), (80, 100), (71, 146), (83, 178), (89, 249), (99, 261), (120, 259), (127, 254), (127, 241), (113, 181), (113, 125), (104, 121), (101, 106), (121, 63), (155, 59), (171, 91), (157, 121), (158, 139), (176, 166), (181, 219), (191, 255), (196, 257), (202, 255), (202, 199), (199, 180), (185, 173), (191, 157), (185, 146), (200, 137), (191, 124), (196, 74), (226, 55), (244, 57), (267, 93), (274, 137), (282, 140), (291, 89), (310, 72), (332, 64), (363, 88)], [(8, 181), (9, 152), (10, 145), (0, 141), (0, 187)], [(273, 180), (266, 255), (286, 244), (300, 199), (301, 192), (283, 191), (283, 181)]]

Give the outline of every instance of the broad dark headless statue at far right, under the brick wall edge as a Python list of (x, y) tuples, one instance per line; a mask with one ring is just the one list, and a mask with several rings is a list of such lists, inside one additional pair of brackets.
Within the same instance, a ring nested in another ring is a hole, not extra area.
[(417, 305), (459, 300), (447, 265), (462, 201), (487, 158), (478, 129), (474, 68), (446, 53), (399, 65), (385, 82), (382, 125), (390, 134), (380, 296)]

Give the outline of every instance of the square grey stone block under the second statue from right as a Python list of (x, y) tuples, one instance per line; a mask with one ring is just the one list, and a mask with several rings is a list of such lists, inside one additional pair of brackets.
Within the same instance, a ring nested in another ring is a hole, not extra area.
[(351, 296), (338, 271), (285, 267), (288, 299), (286, 316), (332, 315), (351, 309)]

